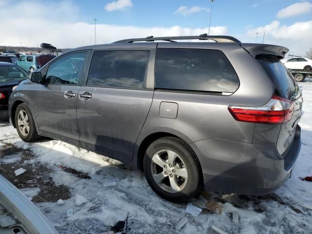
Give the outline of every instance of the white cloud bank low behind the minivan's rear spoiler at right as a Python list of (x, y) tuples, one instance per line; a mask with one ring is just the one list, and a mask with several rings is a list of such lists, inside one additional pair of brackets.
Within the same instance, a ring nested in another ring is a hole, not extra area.
[(291, 25), (281, 25), (279, 21), (274, 20), (265, 26), (248, 30), (248, 38), (245, 40), (254, 41), (256, 33), (259, 33), (260, 37), (265, 33), (267, 44), (286, 46), (291, 51), (302, 54), (311, 47), (312, 20)]

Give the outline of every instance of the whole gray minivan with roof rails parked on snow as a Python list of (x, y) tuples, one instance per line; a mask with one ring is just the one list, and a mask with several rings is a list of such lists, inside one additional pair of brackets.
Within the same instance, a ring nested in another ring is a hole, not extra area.
[(268, 194), (301, 146), (287, 52), (206, 34), (80, 47), (20, 83), (10, 119), (24, 141), (51, 137), (139, 168), (171, 201), (202, 188)]

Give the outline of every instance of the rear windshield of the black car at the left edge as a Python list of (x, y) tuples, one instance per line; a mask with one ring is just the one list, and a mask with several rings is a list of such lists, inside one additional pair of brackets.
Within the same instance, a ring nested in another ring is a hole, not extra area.
[(21, 80), (28, 77), (29, 74), (19, 66), (0, 66), (0, 82)]

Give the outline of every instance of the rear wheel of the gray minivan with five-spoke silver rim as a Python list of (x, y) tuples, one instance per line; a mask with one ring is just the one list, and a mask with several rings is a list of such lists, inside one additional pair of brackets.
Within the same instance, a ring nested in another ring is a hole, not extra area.
[(176, 137), (163, 137), (146, 150), (144, 174), (154, 192), (173, 202), (186, 202), (201, 186), (199, 161), (193, 150)]

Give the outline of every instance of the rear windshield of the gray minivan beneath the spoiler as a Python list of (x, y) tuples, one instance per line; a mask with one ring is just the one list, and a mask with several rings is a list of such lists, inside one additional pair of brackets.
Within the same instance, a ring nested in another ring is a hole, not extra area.
[(290, 71), (274, 55), (261, 55), (256, 59), (271, 78), (275, 94), (290, 100), (297, 98), (299, 87)]

